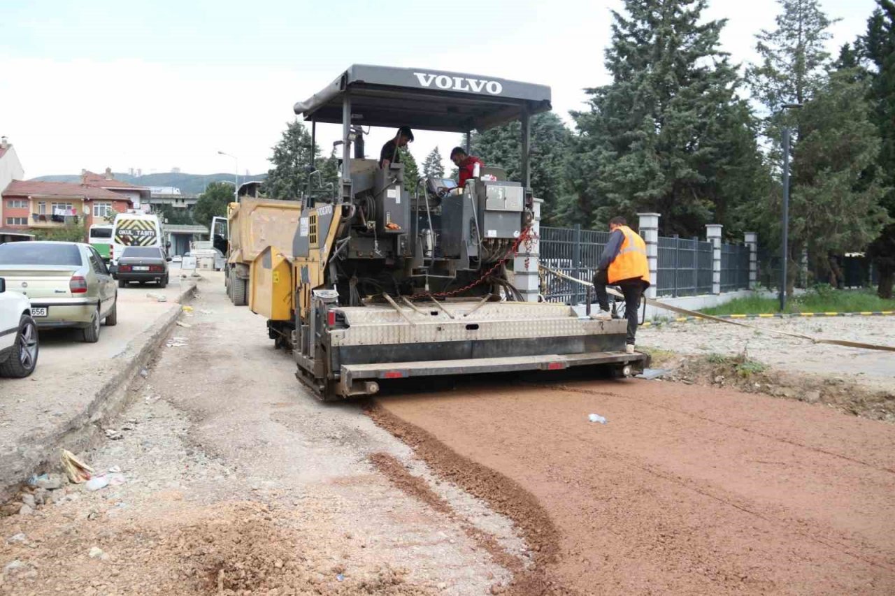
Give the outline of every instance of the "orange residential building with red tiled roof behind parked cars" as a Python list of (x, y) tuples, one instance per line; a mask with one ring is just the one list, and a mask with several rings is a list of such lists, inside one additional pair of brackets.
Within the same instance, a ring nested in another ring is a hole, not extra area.
[(9, 229), (47, 229), (67, 225), (106, 223), (115, 212), (133, 208), (124, 194), (87, 184), (13, 180), (2, 196), (3, 226)]

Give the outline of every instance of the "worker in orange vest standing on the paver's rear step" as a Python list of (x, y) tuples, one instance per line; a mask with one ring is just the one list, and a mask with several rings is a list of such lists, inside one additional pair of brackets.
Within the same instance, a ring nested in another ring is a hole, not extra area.
[(627, 353), (634, 353), (637, 311), (640, 310), (640, 297), (650, 286), (650, 265), (646, 260), (644, 239), (627, 226), (624, 217), (609, 220), (609, 242), (603, 249), (600, 264), (593, 276), (593, 289), (597, 294), (600, 311), (593, 313), (592, 319), (612, 319), (609, 314), (609, 295), (606, 294), (607, 285), (618, 285), (625, 295), (625, 349)]

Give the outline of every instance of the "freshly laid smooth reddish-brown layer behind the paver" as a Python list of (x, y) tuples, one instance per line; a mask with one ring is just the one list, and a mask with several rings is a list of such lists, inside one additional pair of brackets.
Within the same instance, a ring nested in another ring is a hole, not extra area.
[[(548, 579), (575, 593), (895, 591), (892, 425), (644, 380), (472, 386), (379, 409), (499, 511), (533, 500), (554, 527), (527, 537), (547, 537)], [(475, 466), (517, 490), (495, 494)]]

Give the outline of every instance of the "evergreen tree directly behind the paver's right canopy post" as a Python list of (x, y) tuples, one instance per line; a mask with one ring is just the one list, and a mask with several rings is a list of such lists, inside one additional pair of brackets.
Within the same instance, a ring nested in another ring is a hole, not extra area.
[[(572, 133), (558, 115), (543, 112), (531, 120), (529, 140), (529, 168), (532, 192), (541, 205), (541, 222), (558, 223), (558, 205), (567, 190), (566, 163), (572, 143)], [(522, 123), (504, 124), (485, 132), (473, 132), (470, 151), (486, 166), (507, 170), (507, 178), (522, 182)]]

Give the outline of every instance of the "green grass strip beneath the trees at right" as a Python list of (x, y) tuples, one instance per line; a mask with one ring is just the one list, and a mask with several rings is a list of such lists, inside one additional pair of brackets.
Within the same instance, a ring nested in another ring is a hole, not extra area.
[[(712, 315), (762, 314), (779, 312), (780, 301), (753, 294), (731, 300), (726, 304), (703, 309)], [(873, 290), (836, 290), (829, 285), (818, 285), (811, 290), (787, 300), (786, 313), (799, 312), (864, 312), (895, 311), (895, 300), (883, 300)]]

